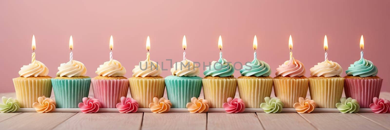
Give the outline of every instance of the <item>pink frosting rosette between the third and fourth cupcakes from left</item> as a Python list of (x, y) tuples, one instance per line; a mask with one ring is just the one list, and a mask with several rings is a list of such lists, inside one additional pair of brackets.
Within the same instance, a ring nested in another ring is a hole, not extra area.
[(121, 113), (137, 112), (138, 102), (133, 98), (121, 97), (121, 102), (117, 103), (117, 109)]

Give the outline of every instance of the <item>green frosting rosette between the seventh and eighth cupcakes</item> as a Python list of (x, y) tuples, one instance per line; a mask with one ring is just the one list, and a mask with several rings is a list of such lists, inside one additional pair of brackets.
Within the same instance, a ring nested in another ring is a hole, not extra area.
[(269, 97), (265, 97), (264, 100), (266, 102), (260, 104), (260, 107), (264, 110), (264, 112), (266, 113), (282, 112), (284, 103), (279, 98), (269, 99)]

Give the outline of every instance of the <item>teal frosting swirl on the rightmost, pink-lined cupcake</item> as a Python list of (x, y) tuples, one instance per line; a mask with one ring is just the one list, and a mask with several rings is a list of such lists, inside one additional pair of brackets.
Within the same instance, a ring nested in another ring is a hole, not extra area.
[(355, 61), (348, 67), (348, 70), (345, 71), (347, 75), (359, 76), (359, 77), (369, 77), (376, 76), (378, 74), (378, 68), (372, 64), (371, 61), (368, 61), (364, 58), (360, 58), (359, 61)]

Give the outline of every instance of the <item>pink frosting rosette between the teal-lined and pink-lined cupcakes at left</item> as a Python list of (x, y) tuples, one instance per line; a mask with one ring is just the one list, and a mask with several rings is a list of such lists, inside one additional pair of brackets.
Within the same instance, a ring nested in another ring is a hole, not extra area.
[(92, 113), (99, 111), (101, 104), (96, 98), (83, 98), (83, 102), (78, 103), (78, 107), (83, 113)]

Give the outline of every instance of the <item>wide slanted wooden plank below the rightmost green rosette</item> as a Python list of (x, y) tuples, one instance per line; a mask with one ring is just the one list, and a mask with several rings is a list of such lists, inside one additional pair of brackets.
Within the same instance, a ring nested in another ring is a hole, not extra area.
[(324, 130), (384, 130), (378, 124), (355, 113), (314, 112), (300, 114), (317, 129)]

